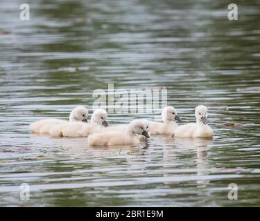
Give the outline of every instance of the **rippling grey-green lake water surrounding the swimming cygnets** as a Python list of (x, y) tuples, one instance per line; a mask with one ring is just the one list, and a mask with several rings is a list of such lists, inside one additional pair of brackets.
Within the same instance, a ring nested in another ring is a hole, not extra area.
[[(37, 0), (20, 21), (23, 2), (0, 2), (0, 206), (260, 206), (260, 91), (247, 89), (260, 86), (259, 1), (238, 3), (239, 21), (226, 1), (205, 0)], [(91, 110), (108, 83), (166, 87), (184, 122), (211, 106), (214, 140), (89, 148), (87, 138), (30, 133), (37, 119)], [(238, 200), (227, 198), (231, 183)]]

